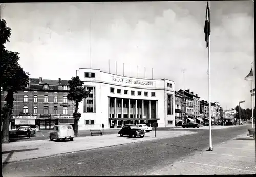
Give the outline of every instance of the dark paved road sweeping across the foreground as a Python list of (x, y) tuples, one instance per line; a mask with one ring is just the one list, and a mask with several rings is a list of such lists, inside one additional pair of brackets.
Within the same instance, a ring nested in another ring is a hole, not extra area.
[[(246, 135), (249, 127), (213, 130), (212, 144)], [(208, 130), (200, 130), (193, 135), (14, 162), (4, 164), (3, 176), (145, 175), (196, 151), (207, 150), (208, 136)]]

